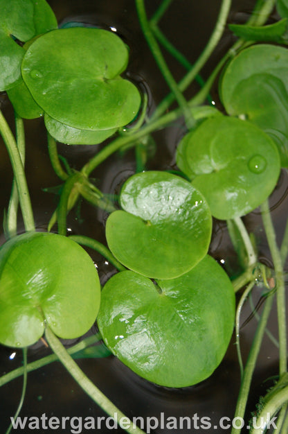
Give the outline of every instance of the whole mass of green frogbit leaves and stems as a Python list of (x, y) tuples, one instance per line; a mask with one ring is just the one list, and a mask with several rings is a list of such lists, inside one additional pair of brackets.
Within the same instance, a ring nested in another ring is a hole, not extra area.
[[(0, 89), (6, 92), (16, 119), (15, 137), (0, 114), (0, 132), (15, 176), (4, 219), (7, 241), (0, 249), (0, 342), (24, 348), (24, 367), (3, 375), (0, 385), (24, 374), (24, 396), (28, 370), (59, 358), (83, 390), (115, 417), (123, 414), (69, 352), (79, 356), (80, 349), (101, 339), (105, 355), (114, 354), (143, 379), (183, 388), (213, 374), (235, 327), (241, 374), (235, 417), (241, 419), (276, 297), (278, 379), (262, 399), (258, 417), (279, 414), (277, 432), (286, 433), (283, 266), (288, 229), (279, 248), (269, 196), (280, 171), (288, 166), (288, 2), (259, 0), (246, 24), (231, 25), (238, 39), (206, 82), (199, 72), (222, 37), (231, 1), (222, 0), (215, 31), (194, 65), (160, 31), (159, 22), (170, 3), (172, 0), (163, 0), (148, 19), (144, 0), (135, 0), (143, 35), (171, 91), (149, 114), (147, 95), (141, 95), (125, 75), (129, 46), (113, 31), (57, 28), (55, 15), (44, 0), (0, 0)], [(266, 24), (275, 6), (282, 19)], [(188, 67), (179, 83), (159, 42)], [(188, 101), (185, 90), (194, 80), (201, 83), (201, 89)], [(219, 110), (215, 103), (209, 105), (213, 86), (219, 88)], [(172, 110), (174, 101), (177, 108)], [(38, 117), (44, 119), (51, 165), (63, 182), (46, 232), (35, 228), (24, 171), (23, 119)], [(174, 173), (147, 170), (152, 134), (177, 120), (185, 123), (185, 134), (177, 146)], [(57, 141), (67, 148), (77, 144), (100, 144), (101, 148), (75, 171), (69, 157), (58, 155)], [(96, 187), (91, 173), (116, 151), (132, 147), (136, 148), (138, 170), (123, 182), (115, 203)], [(68, 236), (66, 215), (80, 196), (109, 214), (107, 246), (87, 236)], [(18, 202), (23, 234), (17, 227)], [(259, 263), (257, 246), (242, 220), (258, 207), (272, 268)], [(236, 278), (210, 255), (215, 219), (226, 222), (237, 252), (240, 272)], [(56, 223), (57, 233), (52, 233)], [(96, 266), (80, 245), (98, 250), (115, 267), (102, 291)], [(261, 273), (264, 309), (243, 365), (240, 313), (255, 286), (255, 273), (258, 280)], [(235, 292), (240, 290), (235, 309)], [(94, 322), (100, 331), (97, 336), (69, 351), (64, 349), (58, 338), (80, 338)], [(27, 347), (42, 336), (55, 356), (37, 365), (27, 364)], [(20, 410), (21, 406), (17, 414)], [(127, 432), (143, 433), (145, 427), (128, 422), (122, 426)], [(231, 433), (241, 429), (233, 425)], [(265, 429), (253, 426), (251, 433)]]

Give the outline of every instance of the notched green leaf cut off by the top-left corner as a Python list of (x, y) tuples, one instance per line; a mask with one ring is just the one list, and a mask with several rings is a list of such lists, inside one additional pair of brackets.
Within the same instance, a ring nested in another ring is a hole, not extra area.
[(21, 77), (26, 42), (57, 28), (57, 20), (45, 0), (0, 0), (0, 90), (10, 89)]

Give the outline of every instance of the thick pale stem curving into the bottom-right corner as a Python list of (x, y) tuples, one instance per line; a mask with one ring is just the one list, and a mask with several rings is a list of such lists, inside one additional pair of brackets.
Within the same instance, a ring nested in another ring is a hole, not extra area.
[[(262, 408), (260, 414), (258, 415), (257, 421), (255, 426), (261, 426), (261, 428), (253, 428), (250, 433), (251, 434), (262, 434), (267, 429), (267, 424), (269, 423), (269, 420), (275, 415), (278, 410), (288, 401), (288, 386), (283, 388), (282, 390), (279, 390), (276, 394), (273, 394), (271, 399), (265, 403), (264, 407)], [(269, 415), (267, 417), (267, 415)], [(264, 422), (261, 424), (261, 422)], [(285, 431), (282, 431), (284, 434)]]

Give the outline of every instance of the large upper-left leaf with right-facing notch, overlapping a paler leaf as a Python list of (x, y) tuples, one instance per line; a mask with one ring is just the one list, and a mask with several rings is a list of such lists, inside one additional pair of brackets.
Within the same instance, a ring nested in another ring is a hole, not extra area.
[(80, 130), (109, 130), (134, 119), (138, 89), (120, 77), (127, 46), (99, 28), (64, 28), (28, 47), (22, 75), (35, 101), (53, 119)]

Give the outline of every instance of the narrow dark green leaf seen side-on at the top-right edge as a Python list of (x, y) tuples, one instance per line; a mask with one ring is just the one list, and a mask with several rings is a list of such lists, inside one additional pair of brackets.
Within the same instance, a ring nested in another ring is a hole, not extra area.
[(248, 24), (229, 24), (229, 28), (236, 36), (247, 41), (278, 42), (283, 44), (287, 37), (287, 19), (280, 19), (267, 26), (249, 26)]

